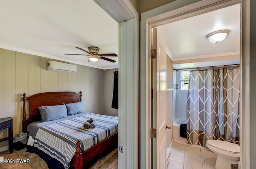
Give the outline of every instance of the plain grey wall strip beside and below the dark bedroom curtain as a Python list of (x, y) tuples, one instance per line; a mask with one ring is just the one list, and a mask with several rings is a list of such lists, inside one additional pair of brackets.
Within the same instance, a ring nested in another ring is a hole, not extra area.
[(104, 114), (108, 116), (118, 115), (118, 109), (111, 107), (114, 87), (113, 71), (118, 71), (118, 69), (104, 70), (104, 83), (102, 83), (102, 86), (104, 86), (104, 102), (102, 100), (99, 101), (104, 104)]

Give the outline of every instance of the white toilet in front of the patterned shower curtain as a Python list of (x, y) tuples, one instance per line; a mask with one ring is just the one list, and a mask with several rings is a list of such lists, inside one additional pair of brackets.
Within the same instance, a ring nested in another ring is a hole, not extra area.
[(207, 140), (206, 146), (218, 155), (215, 169), (231, 169), (231, 164), (238, 164), (240, 159), (238, 144), (222, 140)]

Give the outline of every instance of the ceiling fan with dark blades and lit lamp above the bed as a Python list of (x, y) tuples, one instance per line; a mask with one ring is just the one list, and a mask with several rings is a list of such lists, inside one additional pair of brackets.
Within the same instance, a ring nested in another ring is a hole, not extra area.
[(90, 56), (88, 62), (90, 62), (90, 61), (96, 62), (99, 59), (110, 61), (112, 63), (116, 62), (116, 61), (114, 61), (112, 59), (106, 58), (108, 56), (117, 56), (115, 53), (99, 53), (100, 48), (98, 48), (98, 47), (94, 47), (94, 46), (88, 47), (89, 51), (86, 51), (86, 50), (84, 50), (84, 49), (82, 49), (80, 47), (76, 47), (76, 48), (80, 49), (82, 51), (85, 51), (86, 53), (88, 53), (90, 55), (86, 55), (86, 54), (69, 54), (69, 53), (64, 53), (64, 55), (86, 55), (86, 56)]

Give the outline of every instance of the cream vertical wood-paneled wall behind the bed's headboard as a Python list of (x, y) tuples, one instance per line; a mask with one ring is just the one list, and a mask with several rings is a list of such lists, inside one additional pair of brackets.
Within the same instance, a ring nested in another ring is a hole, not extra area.
[[(0, 49), (0, 118), (12, 117), (13, 133), (22, 130), (22, 94), (82, 91), (85, 112), (104, 114), (104, 70), (77, 65), (76, 73), (47, 71), (45, 57)], [(101, 104), (101, 102), (103, 102)], [(7, 130), (0, 132), (0, 139)], [(0, 147), (8, 141), (0, 143)]]

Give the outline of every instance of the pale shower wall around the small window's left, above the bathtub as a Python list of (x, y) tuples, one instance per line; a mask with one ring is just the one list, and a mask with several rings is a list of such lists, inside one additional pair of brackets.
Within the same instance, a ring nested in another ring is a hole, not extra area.
[(187, 119), (188, 92), (180, 92), (180, 71), (176, 71), (176, 83), (178, 84), (178, 89), (176, 89), (176, 112), (174, 118)]

